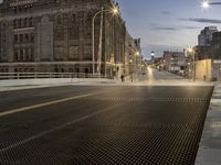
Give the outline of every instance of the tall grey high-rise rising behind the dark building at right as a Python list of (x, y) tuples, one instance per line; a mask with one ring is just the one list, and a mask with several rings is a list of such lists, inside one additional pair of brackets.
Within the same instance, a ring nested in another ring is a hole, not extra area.
[(212, 34), (218, 32), (217, 26), (207, 26), (202, 30), (198, 36), (199, 46), (210, 46), (212, 43)]

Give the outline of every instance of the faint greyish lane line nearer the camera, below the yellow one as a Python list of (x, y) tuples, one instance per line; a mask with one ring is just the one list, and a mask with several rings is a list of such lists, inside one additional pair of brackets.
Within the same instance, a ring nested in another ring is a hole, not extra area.
[(0, 152), (6, 152), (6, 151), (8, 151), (8, 150), (12, 150), (12, 148), (18, 147), (18, 146), (20, 146), (20, 145), (23, 145), (23, 144), (25, 144), (25, 143), (29, 143), (30, 141), (40, 139), (40, 138), (42, 138), (42, 136), (44, 136), (44, 135), (46, 135), (46, 134), (53, 133), (53, 132), (59, 131), (59, 130), (61, 130), (61, 129), (63, 129), (63, 128), (65, 128), (65, 127), (69, 127), (69, 125), (71, 125), (71, 124), (74, 124), (74, 123), (76, 123), (76, 122), (81, 122), (81, 121), (87, 120), (87, 119), (90, 119), (90, 118), (93, 118), (93, 117), (95, 117), (95, 116), (97, 116), (97, 114), (104, 113), (104, 112), (106, 112), (106, 111), (110, 111), (112, 109), (114, 109), (114, 108), (116, 108), (116, 107), (119, 107), (119, 106), (123, 106), (123, 105), (125, 105), (125, 103), (126, 103), (126, 102), (119, 103), (119, 105), (115, 105), (115, 106), (112, 106), (112, 107), (107, 107), (107, 108), (105, 108), (105, 109), (103, 109), (103, 110), (96, 111), (96, 112), (94, 112), (94, 113), (84, 116), (84, 117), (78, 118), (78, 119), (75, 119), (75, 120), (73, 120), (73, 121), (71, 121), (71, 122), (61, 124), (61, 125), (55, 127), (55, 128), (53, 128), (53, 129), (50, 129), (50, 130), (48, 130), (48, 131), (41, 132), (41, 133), (39, 133), (39, 134), (36, 134), (36, 135), (33, 135), (33, 136), (31, 136), (31, 138), (29, 138), (29, 139), (25, 139), (25, 140), (20, 141), (20, 142), (18, 142), (18, 143), (11, 144), (11, 145), (9, 145), (9, 146), (7, 146), (7, 147), (4, 147), (4, 148), (1, 148)]

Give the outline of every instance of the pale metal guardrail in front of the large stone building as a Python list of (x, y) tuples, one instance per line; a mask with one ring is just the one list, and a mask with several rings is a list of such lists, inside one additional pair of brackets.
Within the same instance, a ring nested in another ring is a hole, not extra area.
[(107, 78), (113, 76), (93, 75), (85, 73), (0, 73), (2, 79), (40, 79), (40, 78)]

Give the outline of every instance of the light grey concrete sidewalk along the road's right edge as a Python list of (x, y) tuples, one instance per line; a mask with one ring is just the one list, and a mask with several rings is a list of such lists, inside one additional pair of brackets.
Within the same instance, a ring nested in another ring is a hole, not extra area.
[(221, 84), (215, 84), (196, 165), (221, 165)]

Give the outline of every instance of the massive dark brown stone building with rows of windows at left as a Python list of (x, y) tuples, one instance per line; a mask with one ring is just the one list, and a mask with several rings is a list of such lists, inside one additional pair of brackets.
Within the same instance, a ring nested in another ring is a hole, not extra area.
[[(3, 0), (0, 4), (0, 72), (92, 73), (92, 20), (114, 0)], [(98, 64), (101, 16), (95, 19), (95, 68)], [(104, 12), (102, 74), (125, 64), (126, 26)]]

